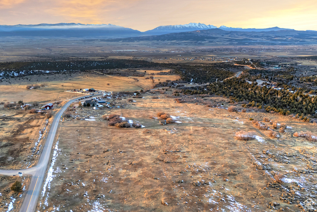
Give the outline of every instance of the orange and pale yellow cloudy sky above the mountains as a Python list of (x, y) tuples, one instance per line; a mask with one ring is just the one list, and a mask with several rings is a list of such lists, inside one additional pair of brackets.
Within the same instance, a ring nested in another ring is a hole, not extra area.
[(204, 23), (317, 30), (316, 0), (0, 0), (0, 24), (115, 24), (134, 30)]

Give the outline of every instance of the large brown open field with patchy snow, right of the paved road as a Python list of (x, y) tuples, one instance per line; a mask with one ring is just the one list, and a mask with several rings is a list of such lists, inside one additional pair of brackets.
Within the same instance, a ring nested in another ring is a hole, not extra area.
[[(170, 91), (142, 95), (122, 109), (76, 109), (73, 116), (82, 120), (61, 123), (39, 211), (300, 211), (300, 203), (315, 195), (315, 145), (293, 137), (301, 130), (316, 133), (313, 123), (176, 103), (165, 97)], [(126, 104), (126, 98), (115, 101)], [(159, 125), (149, 117), (159, 111), (179, 123)], [(145, 128), (110, 127), (103, 114), (120, 114)], [(264, 117), (287, 125), (280, 137), (249, 121)], [(240, 130), (257, 137), (237, 140)], [(280, 183), (277, 174), (284, 175)]]

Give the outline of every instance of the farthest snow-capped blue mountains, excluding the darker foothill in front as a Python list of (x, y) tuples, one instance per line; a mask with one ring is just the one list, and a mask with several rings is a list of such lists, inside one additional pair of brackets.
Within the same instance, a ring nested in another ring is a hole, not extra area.
[[(81, 24), (81, 23), (56, 23), (56, 24), (30, 24), (30, 25), (0, 25), (0, 36), (53, 36), (53, 37), (90, 37), (90, 38), (122, 38), (134, 36), (163, 35), (169, 33), (189, 32), (195, 30), (217, 29), (216, 26), (203, 23), (189, 23), (184, 25), (159, 26), (153, 30), (140, 32), (113, 24)], [(218, 29), (225, 31), (277, 31), (291, 30), (278, 27), (267, 29), (242, 29), (221, 26)]]

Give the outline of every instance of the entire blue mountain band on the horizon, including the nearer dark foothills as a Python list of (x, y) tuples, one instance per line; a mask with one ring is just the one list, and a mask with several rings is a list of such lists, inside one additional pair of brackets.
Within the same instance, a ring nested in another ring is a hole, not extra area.
[(309, 45), (317, 31), (284, 28), (243, 29), (203, 23), (159, 26), (140, 32), (113, 24), (57, 23), (0, 25), (0, 37), (96, 38), (106, 42), (151, 42), (170, 45)]

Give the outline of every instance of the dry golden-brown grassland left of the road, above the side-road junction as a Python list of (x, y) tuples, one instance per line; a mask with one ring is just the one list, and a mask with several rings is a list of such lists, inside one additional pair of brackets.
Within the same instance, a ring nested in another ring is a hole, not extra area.
[[(160, 72), (156, 70), (139, 71), (142, 73), (147, 71), (147, 74)], [(168, 72), (169, 70), (162, 71)], [(31, 108), (39, 109), (41, 104), (67, 100), (76, 96), (75, 93), (64, 92), (65, 90), (94, 87), (111, 91), (135, 91), (153, 86), (151, 80), (145, 79), (145, 77), (100, 76), (97, 74), (92, 72), (74, 73), (67, 76), (63, 74), (34, 75), (28, 76), (30, 81), (25, 79), (26, 77), (14, 78), (15, 84), (6, 82), (6, 85), (0, 86), (0, 101), (6, 103), (23, 100), (24, 103), (31, 104)], [(159, 79), (162, 81), (179, 79), (177, 75), (154, 75), (154, 77), (156, 82)], [(139, 81), (133, 78), (137, 78)], [(38, 89), (26, 89), (26, 85), (29, 84), (43, 84), (44, 86)], [(40, 105), (33, 106), (34, 102)], [(58, 109), (58, 105), (55, 105), (53, 111)], [(24, 111), (20, 107), (7, 109), (0, 105), (0, 167), (21, 169), (33, 166), (44, 142), (42, 137), (45, 137), (49, 125), (50, 119), (46, 119), (45, 115), (30, 114), (29, 111)]]

